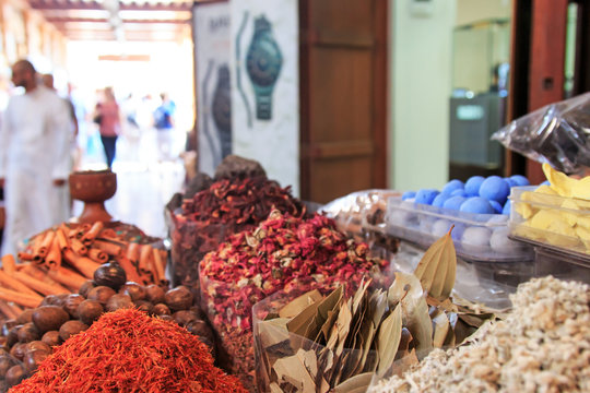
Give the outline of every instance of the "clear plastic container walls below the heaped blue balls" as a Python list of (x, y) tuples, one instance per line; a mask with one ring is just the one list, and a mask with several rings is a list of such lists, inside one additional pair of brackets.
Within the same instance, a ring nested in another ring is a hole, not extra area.
[(508, 238), (508, 216), (473, 214), (449, 209), (388, 200), (386, 230), (426, 249), (451, 233), (457, 255), (470, 262), (522, 262), (533, 259), (532, 248)]

